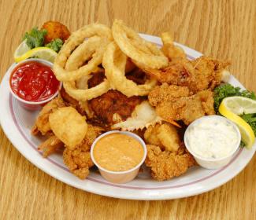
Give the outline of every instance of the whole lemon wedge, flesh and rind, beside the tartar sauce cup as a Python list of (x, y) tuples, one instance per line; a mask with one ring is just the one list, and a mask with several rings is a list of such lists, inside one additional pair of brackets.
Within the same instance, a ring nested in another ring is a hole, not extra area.
[(221, 101), (221, 105), (219, 107), (221, 115), (230, 119), (233, 123), (236, 123), (237, 127), (239, 127), (242, 141), (247, 148), (251, 148), (252, 145), (254, 145), (254, 131), (251, 129), (250, 125), (238, 115), (249, 112), (255, 113), (256, 111), (252, 111), (253, 105), (254, 100), (247, 97), (226, 97)]

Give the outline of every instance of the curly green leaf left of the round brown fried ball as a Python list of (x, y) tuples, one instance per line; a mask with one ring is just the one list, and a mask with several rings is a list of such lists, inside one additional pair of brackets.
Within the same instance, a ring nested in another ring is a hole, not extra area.
[(35, 47), (43, 46), (44, 36), (47, 34), (45, 29), (39, 30), (38, 27), (32, 28), (31, 31), (28, 31), (24, 35), (24, 40), (27, 40), (26, 43), (30, 49)]

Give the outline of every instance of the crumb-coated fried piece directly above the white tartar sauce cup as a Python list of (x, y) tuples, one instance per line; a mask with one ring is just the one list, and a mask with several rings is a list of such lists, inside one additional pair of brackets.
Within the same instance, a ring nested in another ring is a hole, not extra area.
[(210, 90), (190, 95), (185, 86), (168, 86), (164, 83), (152, 90), (148, 98), (158, 116), (170, 122), (183, 120), (188, 125), (202, 116), (215, 114), (213, 92)]

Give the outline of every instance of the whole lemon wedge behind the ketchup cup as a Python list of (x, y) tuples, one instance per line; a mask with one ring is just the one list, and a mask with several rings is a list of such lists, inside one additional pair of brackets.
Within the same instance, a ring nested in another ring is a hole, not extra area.
[(24, 61), (25, 59), (36, 57), (54, 63), (55, 57), (57, 57), (57, 55), (58, 53), (46, 46), (29, 49), (26, 42), (24, 41), (20, 44), (20, 46), (17, 47), (14, 53), (14, 61), (18, 63), (20, 61)]

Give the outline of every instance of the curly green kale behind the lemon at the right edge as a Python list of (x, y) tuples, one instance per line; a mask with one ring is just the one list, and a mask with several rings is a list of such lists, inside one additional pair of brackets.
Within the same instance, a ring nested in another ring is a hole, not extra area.
[(250, 92), (248, 90), (242, 90), (240, 87), (234, 87), (229, 83), (225, 83), (221, 86), (217, 86), (217, 88), (214, 90), (215, 112), (218, 112), (219, 106), (221, 105), (221, 101), (225, 97), (232, 97), (232, 96), (248, 97), (256, 100), (256, 96), (254, 92)]

